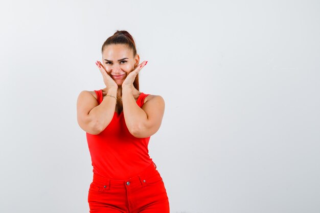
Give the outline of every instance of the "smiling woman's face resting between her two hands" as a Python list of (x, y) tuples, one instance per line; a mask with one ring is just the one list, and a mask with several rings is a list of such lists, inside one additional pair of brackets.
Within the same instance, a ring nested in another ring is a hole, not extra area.
[(139, 55), (133, 58), (133, 52), (125, 44), (109, 44), (102, 53), (103, 66), (118, 86), (139, 64)]

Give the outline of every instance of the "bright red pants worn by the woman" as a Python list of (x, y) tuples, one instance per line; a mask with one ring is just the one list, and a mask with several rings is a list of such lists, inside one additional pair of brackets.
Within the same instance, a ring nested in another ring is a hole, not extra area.
[(88, 193), (90, 213), (169, 213), (162, 177), (152, 162), (139, 175), (115, 180), (94, 173)]

